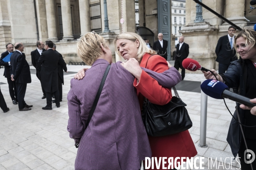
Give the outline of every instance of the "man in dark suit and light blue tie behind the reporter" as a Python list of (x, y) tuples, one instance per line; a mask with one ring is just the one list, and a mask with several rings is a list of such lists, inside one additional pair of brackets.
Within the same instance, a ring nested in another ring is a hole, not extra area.
[(236, 28), (230, 26), (228, 28), (228, 34), (220, 37), (215, 53), (217, 55), (216, 62), (219, 63), (219, 73), (225, 73), (230, 65), (230, 62), (237, 60), (236, 50), (234, 48), (234, 40)]

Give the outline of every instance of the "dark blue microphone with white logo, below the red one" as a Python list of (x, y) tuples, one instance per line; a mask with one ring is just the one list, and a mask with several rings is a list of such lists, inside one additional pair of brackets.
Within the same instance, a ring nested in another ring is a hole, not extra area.
[(207, 96), (210, 96), (214, 99), (226, 98), (247, 105), (249, 107), (256, 106), (255, 103), (250, 102), (249, 98), (233, 93), (227, 89), (227, 85), (215, 79), (207, 79), (201, 84), (201, 90), (207, 94)]

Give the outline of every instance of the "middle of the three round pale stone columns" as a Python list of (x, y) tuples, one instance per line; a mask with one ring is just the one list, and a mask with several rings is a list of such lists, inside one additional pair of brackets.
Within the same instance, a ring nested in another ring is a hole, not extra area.
[(73, 40), (70, 0), (61, 0), (61, 14), (63, 24), (63, 39)]

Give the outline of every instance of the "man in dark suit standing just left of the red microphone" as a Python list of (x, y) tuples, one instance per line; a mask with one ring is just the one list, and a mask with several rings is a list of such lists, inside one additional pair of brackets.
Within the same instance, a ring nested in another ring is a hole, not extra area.
[(174, 62), (174, 67), (179, 71), (181, 68), (181, 79), (183, 80), (185, 77), (185, 68), (182, 66), (182, 62), (185, 58), (189, 56), (189, 45), (184, 42), (184, 37), (181, 36), (179, 38), (179, 44), (176, 46), (176, 57)]

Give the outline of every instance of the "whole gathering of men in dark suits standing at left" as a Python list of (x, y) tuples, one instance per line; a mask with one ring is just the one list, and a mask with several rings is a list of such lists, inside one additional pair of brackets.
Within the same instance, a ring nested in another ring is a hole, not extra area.
[[(64, 84), (63, 70), (67, 72), (67, 66), (62, 55), (55, 50), (56, 45), (52, 41), (46, 41), (45, 45), (44, 42), (38, 41), (36, 45), (37, 49), (31, 52), (31, 59), (32, 65), (36, 68), (36, 76), (41, 82), (42, 99), (47, 98), (47, 105), (42, 109), (52, 110), (52, 102), (60, 107), (62, 84)], [(5, 67), (4, 76), (7, 78), (13, 104), (18, 104), (19, 111), (29, 111), (33, 105), (27, 105), (24, 97), (27, 83), (31, 83), (31, 75), (23, 51), (24, 45), (21, 42), (15, 45), (8, 43), (6, 52), (1, 54), (0, 65)], [(55, 96), (54, 101), (52, 101), (52, 95)], [(0, 107), (3, 112), (9, 111), (1, 90)]]

